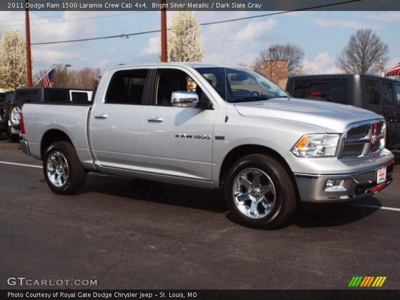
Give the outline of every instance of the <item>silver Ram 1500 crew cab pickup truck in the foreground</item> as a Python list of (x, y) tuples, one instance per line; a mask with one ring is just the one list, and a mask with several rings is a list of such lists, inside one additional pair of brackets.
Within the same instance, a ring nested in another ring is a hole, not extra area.
[(88, 171), (221, 188), (238, 222), (271, 228), (301, 201), (390, 184), (385, 128), (376, 113), (292, 98), (245, 68), (158, 63), (108, 69), (93, 103), (26, 103), (21, 147), (59, 194)]

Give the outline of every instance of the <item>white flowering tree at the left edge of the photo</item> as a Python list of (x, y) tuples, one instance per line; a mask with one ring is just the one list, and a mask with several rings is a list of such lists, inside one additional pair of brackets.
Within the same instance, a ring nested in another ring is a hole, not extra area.
[(6, 90), (26, 85), (26, 46), (19, 29), (7, 29), (0, 40), (0, 87)]

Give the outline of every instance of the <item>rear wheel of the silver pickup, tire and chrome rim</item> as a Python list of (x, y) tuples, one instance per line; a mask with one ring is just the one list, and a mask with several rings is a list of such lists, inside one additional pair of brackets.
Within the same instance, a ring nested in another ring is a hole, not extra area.
[(72, 194), (84, 184), (86, 172), (73, 146), (66, 141), (51, 144), (43, 157), (47, 185), (57, 194)]

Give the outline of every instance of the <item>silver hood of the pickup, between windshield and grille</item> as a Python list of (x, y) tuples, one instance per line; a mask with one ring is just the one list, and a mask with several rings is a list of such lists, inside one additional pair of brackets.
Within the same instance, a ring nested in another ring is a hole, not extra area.
[(343, 132), (349, 123), (383, 118), (372, 111), (350, 105), (297, 98), (239, 102), (235, 103), (235, 108), (243, 116), (303, 123), (332, 133)]

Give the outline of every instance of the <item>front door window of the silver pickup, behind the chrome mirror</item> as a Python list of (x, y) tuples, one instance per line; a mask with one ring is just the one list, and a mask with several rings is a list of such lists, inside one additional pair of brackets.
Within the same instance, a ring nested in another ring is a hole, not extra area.
[(160, 69), (157, 76), (155, 103), (161, 106), (171, 106), (173, 91), (191, 91), (198, 95), (197, 107), (207, 108), (208, 97), (197, 83), (185, 72), (177, 69)]

